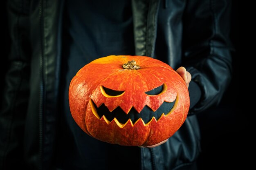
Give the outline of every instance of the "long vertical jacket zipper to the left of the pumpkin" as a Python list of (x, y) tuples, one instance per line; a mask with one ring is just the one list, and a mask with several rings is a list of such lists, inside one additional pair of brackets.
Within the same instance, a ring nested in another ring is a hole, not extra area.
[(39, 170), (43, 170), (43, 100), (44, 100), (44, 48), (43, 48), (43, 0), (39, 1), (39, 24), (40, 24), (40, 43), (41, 43), (41, 57), (40, 57), (40, 93), (39, 93)]

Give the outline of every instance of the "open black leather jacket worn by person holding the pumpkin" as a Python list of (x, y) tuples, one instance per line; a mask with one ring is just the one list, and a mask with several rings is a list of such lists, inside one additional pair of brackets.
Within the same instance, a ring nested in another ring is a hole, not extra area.
[[(54, 169), (63, 0), (9, 0), (10, 66), (0, 112), (0, 169)], [(220, 102), (231, 79), (226, 0), (132, 0), (137, 55), (182, 64), (200, 102), (173, 137), (141, 148), (142, 170), (193, 168), (200, 130), (193, 113)]]

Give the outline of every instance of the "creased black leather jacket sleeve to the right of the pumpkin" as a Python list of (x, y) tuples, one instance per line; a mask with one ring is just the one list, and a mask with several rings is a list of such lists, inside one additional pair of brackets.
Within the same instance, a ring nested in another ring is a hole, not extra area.
[(190, 113), (217, 105), (231, 80), (229, 0), (187, 1), (183, 24), (183, 61), (201, 97)]

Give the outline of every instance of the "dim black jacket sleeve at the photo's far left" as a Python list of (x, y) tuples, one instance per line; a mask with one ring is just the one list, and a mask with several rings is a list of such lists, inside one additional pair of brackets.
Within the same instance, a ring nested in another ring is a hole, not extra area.
[(22, 168), (24, 124), (29, 97), (29, 5), (9, 0), (7, 15), (11, 39), (8, 70), (0, 108), (0, 169)]

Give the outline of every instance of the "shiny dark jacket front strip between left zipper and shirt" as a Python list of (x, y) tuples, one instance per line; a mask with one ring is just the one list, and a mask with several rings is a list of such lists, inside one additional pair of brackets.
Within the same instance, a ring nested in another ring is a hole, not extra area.
[[(58, 87), (61, 74), (61, 18), (63, 1), (42, 1), (40, 31), (42, 42), (42, 60), (40, 61), (40, 107), (42, 111), (42, 133), (39, 149), (39, 163), (43, 169), (54, 165), (54, 146), (56, 142), (56, 126), (58, 119)], [(43, 27), (42, 27), (43, 26)], [(55, 35), (55, 36), (52, 36)], [(35, 56), (36, 57), (36, 56)], [(40, 118), (39, 118), (40, 120)], [(45, 156), (47, 155), (47, 156)]]

